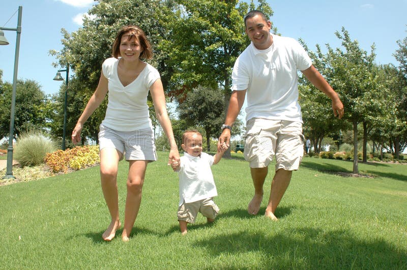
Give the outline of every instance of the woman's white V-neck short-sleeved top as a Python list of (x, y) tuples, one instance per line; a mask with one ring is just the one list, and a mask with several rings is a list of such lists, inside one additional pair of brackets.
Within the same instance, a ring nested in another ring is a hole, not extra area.
[(147, 105), (151, 85), (160, 74), (149, 63), (129, 85), (123, 86), (118, 76), (120, 58), (108, 58), (103, 62), (102, 72), (108, 80), (108, 103), (102, 124), (117, 131), (133, 131), (152, 128)]

